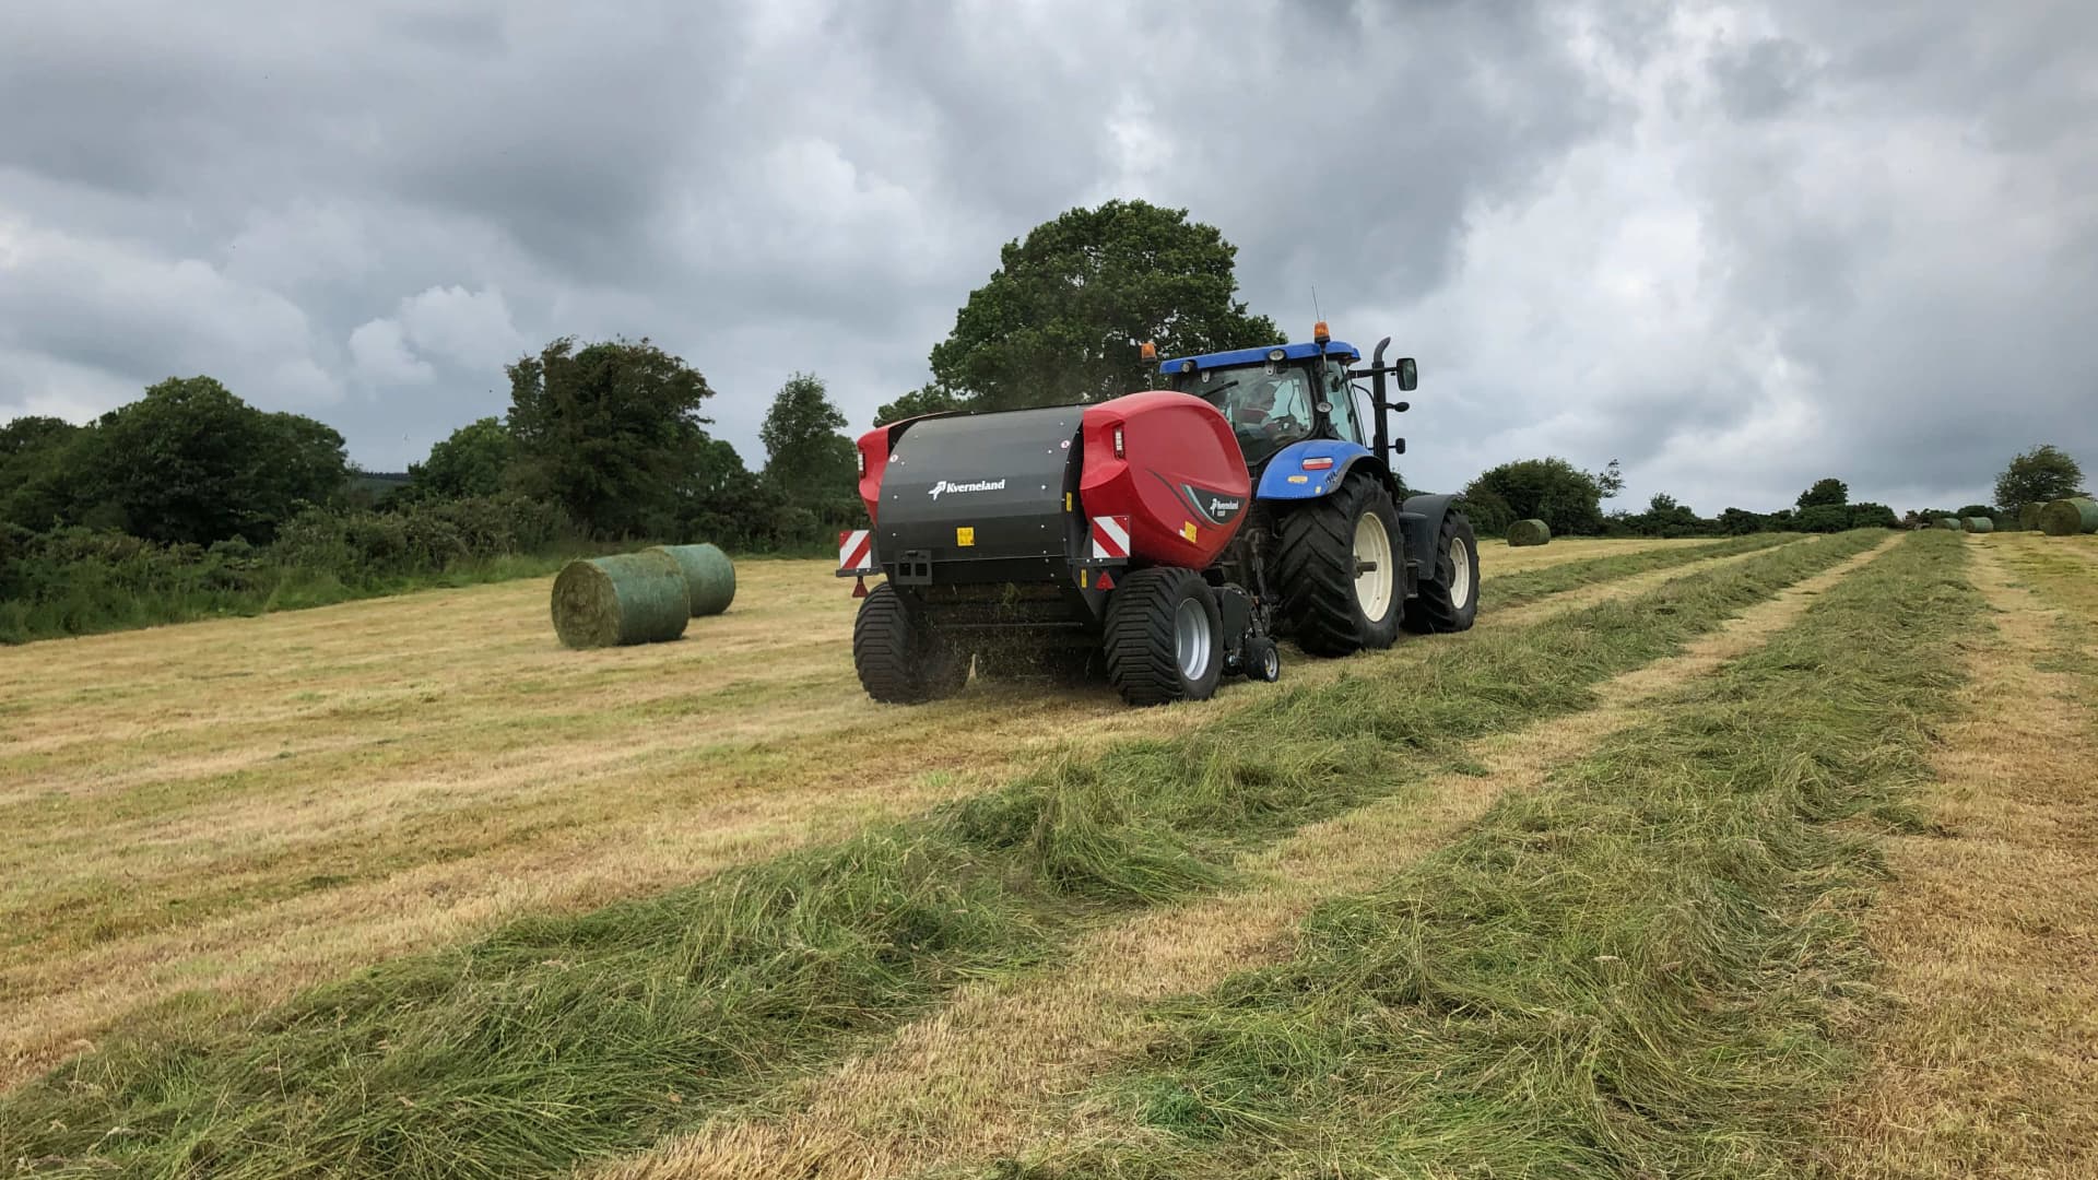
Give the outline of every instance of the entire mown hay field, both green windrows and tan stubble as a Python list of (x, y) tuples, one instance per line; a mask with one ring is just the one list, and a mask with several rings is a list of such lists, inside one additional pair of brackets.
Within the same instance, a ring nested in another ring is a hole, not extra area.
[(2077, 1174), (2085, 542), (1490, 544), (1467, 636), (1141, 714), (877, 708), (822, 563), (0, 651), (0, 1159)]

